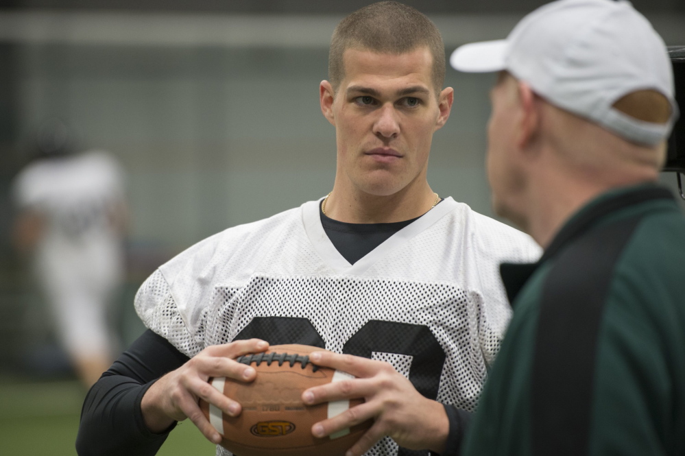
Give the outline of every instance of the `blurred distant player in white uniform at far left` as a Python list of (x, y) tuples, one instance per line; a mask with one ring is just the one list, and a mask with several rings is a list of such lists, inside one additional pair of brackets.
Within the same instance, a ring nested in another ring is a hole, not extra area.
[(14, 244), (33, 259), (58, 339), (87, 387), (118, 350), (108, 308), (123, 274), (123, 172), (110, 154), (75, 154), (60, 121), (40, 128), (36, 158), (14, 182)]

